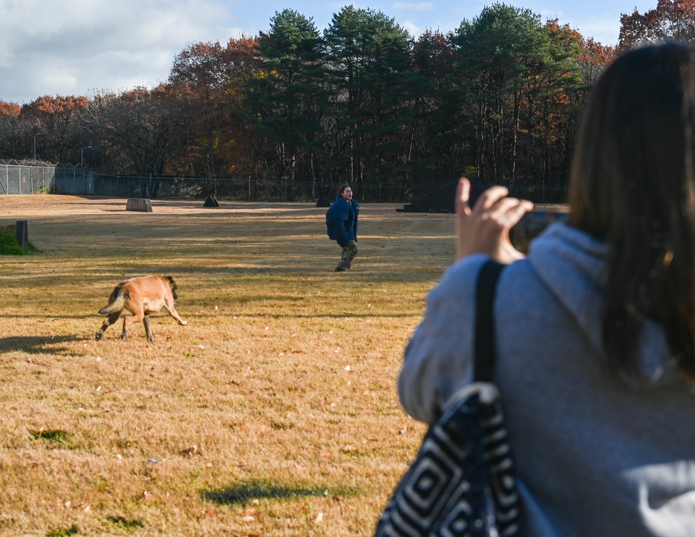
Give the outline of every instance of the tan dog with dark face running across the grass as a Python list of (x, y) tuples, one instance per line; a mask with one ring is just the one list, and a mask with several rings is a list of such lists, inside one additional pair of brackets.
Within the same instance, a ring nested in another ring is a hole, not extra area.
[(123, 317), (121, 339), (126, 338), (128, 325), (131, 322), (142, 321), (145, 324), (147, 340), (154, 341), (152, 332), (149, 330), (149, 314), (157, 313), (162, 307), (167, 308), (179, 324), (188, 324), (188, 321), (181, 319), (181, 315), (174, 308), (174, 301), (177, 299), (176, 289), (176, 283), (171, 276), (141, 276), (119, 283), (111, 293), (111, 297), (108, 297), (108, 306), (99, 310), (101, 315), (108, 315), (108, 317), (95, 336), (97, 341), (104, 336), (104, 331), (118, 320), (124, 310), (131, 313), (131, 316)]

